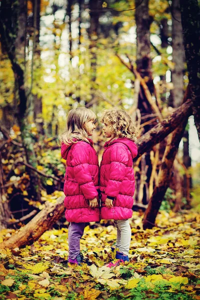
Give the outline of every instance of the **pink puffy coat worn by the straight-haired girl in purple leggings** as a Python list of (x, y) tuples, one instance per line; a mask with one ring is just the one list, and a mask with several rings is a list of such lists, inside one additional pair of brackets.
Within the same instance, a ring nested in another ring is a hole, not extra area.
[(61, 145), (61, 156), (66, 159), (64, 181), (65, 217), (69, 222), (100, 220), (99, 208), (90, 208), (89, 200), (98, 199), (98, 158), (93, 142), (80, 140)]

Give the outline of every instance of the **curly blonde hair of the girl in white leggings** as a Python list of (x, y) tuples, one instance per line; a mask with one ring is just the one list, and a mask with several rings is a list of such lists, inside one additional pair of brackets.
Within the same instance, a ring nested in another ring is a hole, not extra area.
[(122, 109), (107, 109), (103, 112), (100, 122), (110, 125), (113, 138), (128, 137), (135, 141), (138, 131), (127, 112)]

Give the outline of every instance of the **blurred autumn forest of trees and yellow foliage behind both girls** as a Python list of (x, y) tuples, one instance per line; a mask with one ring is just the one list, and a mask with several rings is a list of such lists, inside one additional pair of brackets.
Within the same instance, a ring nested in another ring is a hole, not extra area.
[(136, 122), (143, 229), (163, 212), (199, 212), (199, 19), (196, 0), (1, 0), (1, 247), (67, 228), (57, 138), (78, 106)]

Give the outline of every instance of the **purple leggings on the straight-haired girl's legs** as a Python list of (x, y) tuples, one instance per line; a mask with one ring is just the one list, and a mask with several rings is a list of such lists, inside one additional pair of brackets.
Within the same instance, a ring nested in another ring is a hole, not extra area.
[(70, 222), (68, 227), (69, 257), (75, 259), (80, 253), (80, 238), (84, 232), (85, 223)]

